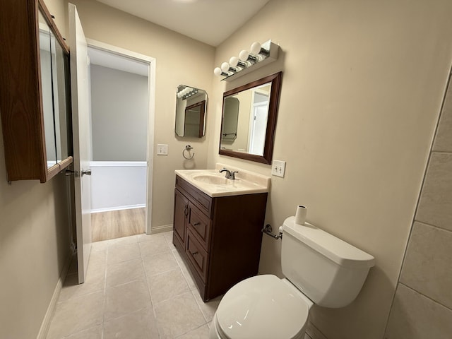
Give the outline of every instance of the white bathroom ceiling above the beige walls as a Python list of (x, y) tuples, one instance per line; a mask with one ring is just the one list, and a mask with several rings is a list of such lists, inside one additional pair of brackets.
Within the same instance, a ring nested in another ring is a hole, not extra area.
[(269, 0), (97, 1), (216, 47)]

